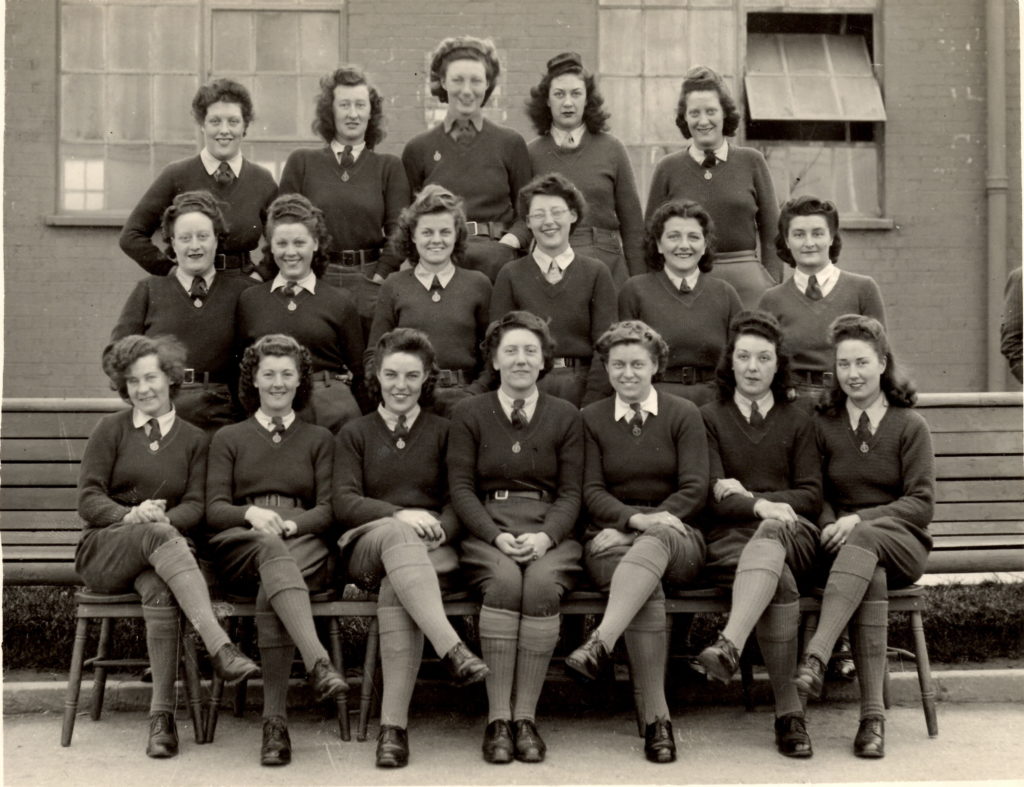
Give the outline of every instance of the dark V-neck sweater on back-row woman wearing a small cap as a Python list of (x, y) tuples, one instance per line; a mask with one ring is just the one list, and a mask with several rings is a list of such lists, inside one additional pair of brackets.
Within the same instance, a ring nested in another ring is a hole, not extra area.
[(537, 137), (526, 147), (535, 177), (560, 172), (583, 191), (587, 211), (577, 226), (618, 232), (630, 275), (646, 273), (643, 213), (625, 145), (611, 134), (588, 131), (571, 150), (560, 149), (550, 134)]

